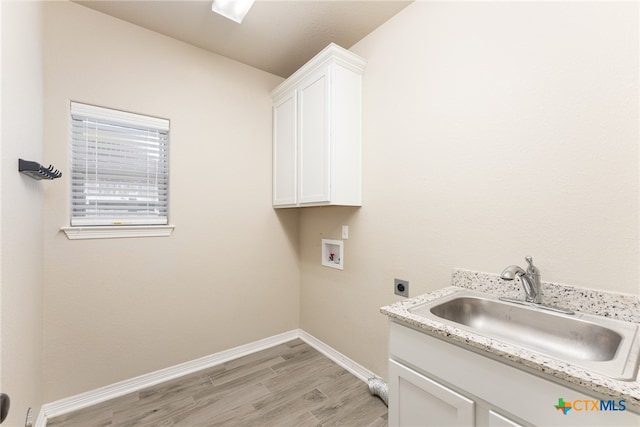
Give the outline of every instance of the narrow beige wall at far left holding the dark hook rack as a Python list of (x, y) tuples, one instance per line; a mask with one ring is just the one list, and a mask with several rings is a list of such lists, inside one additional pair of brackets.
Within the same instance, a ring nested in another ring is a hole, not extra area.
[(55, 185), (18, 173), (18, 158), (44, 162), (41, 5), (0, 2), (0, 391), (3, 425), (24, 425), (42, 403), (42, 209)]

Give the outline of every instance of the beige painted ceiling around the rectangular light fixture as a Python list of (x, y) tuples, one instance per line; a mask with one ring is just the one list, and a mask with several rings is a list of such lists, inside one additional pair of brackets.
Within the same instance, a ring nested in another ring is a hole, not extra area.
[(289, 77), (330, 42), (349, 49), (413, 0), (256, 0), (242, 24), (211, 12), (211, 0), (74, 1)]

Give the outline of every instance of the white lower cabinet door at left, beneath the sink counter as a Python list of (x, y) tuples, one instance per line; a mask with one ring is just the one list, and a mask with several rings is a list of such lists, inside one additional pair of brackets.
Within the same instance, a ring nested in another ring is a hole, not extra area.
[(390, 426), (473, 426), (475, 404), (459, 393), (389, 360)]

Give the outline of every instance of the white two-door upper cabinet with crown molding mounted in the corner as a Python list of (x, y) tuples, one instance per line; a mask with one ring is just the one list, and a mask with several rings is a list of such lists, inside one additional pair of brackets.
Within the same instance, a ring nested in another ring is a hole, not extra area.
[(271, 92), (273, 206), (360, 206), (366, 61), (330, 44)]

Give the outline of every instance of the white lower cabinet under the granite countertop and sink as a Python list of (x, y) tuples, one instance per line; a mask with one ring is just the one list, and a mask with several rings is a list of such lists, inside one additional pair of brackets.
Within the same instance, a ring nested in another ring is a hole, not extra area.
[[(389, 330), (390, 426), (640, 426), (640, 415), (624, 401), (570, 388), (403, 324), (391, 321)], [(565, 413), (559, 402), (573, 407)]]

